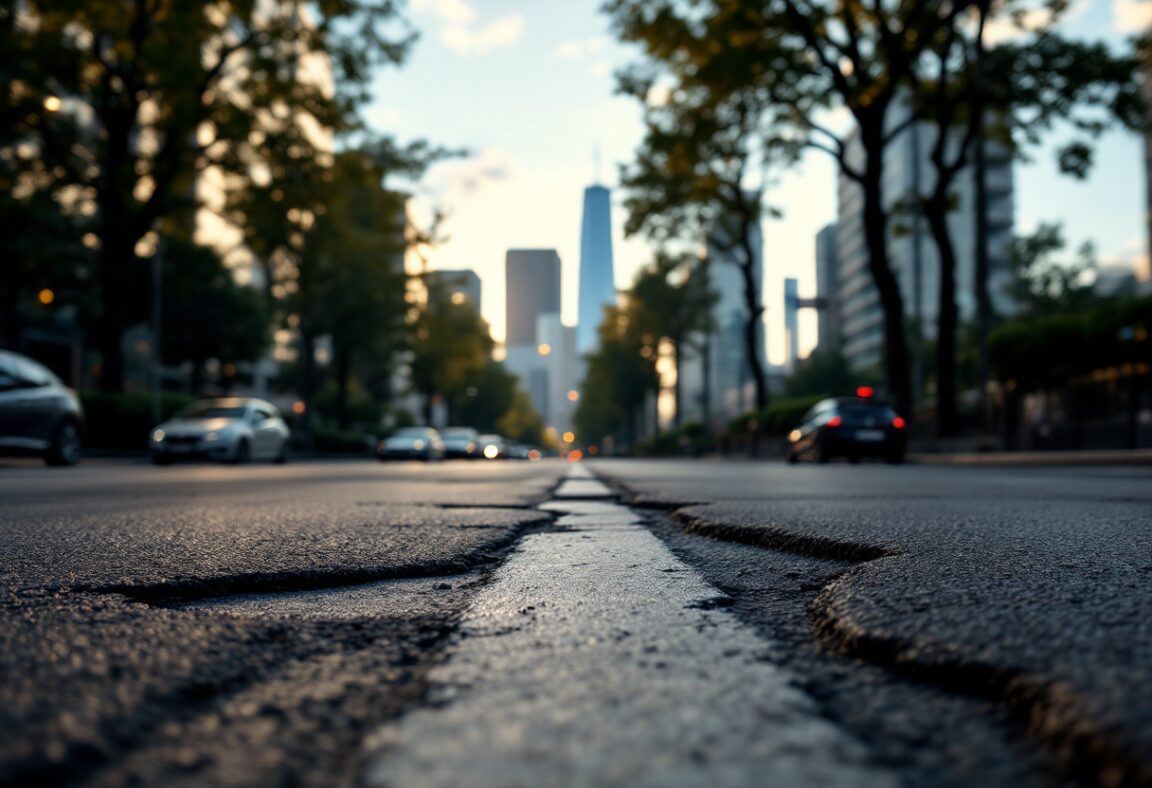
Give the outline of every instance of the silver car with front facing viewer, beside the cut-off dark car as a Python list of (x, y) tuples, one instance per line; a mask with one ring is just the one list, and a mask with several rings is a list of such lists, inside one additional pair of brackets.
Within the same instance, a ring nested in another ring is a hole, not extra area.
[(195, 402), (149, 437), (152, 462), (249, 460), (287, 462), (291, 431), (275, 406), (249, 397), (222, 397)]

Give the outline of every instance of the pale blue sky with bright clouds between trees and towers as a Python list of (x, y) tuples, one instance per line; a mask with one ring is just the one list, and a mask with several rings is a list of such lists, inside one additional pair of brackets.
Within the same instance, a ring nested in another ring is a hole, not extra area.
[[(470, 156), (433, 166), (412, 190), (426, 220), (447, 212), (446, 240), (427, 253), (432, 268), (472, 268), (483, 281), (482, 311), (505, 334), (505, 252), (554, 248), (563, 266), (564, 323), (576, 320), (583, 190), (615, 187), (643, 136), (642, 107), (614, 94), (613, 71), (637, 56), (614, 40), (600, 0), (409, 0), (419, 31), (410, 59), (382, 70), (366, 108), (369, 123), (400, 141), (424, 138)], [(1120, 43), (1152, 23), (1152, 0), (1073, 0), (1066, 21), (1085, 38)], [(1053, 143), (1063, 135), (1058, 131)], [(1143, 145), (1108, 132), (1090, 179), (1060, 176), (1051, 150), (1016, 165), (1016, 229), (1061, 221), (1070, 248), (1096, 244), (1101, 265), (1147, 265)], [(783, 361), (783, 279), (814, 295), (814, 236), (835, 221), (836, 173), (812, 151), (774, 176), (768, 202), (783, 218), (764, 225), (767, 346)], [(622, 195), (613, 191), (617, 288), (652, 257), (641, 238), (622, 236)], [(802, 354), (816, 318), (801, 321)]]

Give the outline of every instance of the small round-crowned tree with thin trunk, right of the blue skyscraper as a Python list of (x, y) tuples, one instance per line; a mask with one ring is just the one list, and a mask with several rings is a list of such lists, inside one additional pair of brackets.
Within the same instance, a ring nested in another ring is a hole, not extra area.
[[(680, 276), (680, 281), (673, 281)], [(676, 258), (658, 255), (649, 266), (637, 272), (628, 291), (636, 329), (655, 354), (661, 342), (672, 348), (676, 364), (675, 425), (682, 416), (682, 365), (694, 351), (692, 338), (706, 335), (712, 327), (712, 308), (715, 294), (708, 289), (707, 263), (691, 257)]]

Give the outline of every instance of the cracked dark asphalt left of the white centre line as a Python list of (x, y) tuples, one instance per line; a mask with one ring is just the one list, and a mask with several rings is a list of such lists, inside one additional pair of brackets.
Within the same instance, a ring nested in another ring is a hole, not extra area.
[(0, 469), (0, 785), (353, 785), (564, 470)]

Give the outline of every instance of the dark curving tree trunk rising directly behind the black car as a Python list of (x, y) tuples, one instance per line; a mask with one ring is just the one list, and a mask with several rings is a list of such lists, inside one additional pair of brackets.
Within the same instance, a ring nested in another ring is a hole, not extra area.
[(900, 283), (888, 264), (888, 212), (884, 205), (884, 129), (882, 113), (879, 122), (861, 124), (864, 145), (864, 236), (869, 252), (869, 270), (880, 296), (884, 310), (885, 371), (888, 389), (896, 411), (912, 420), (912, 386), (909, 370), (908, 342), (904, 338), (904, 301)]

